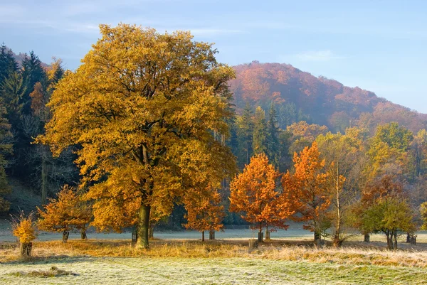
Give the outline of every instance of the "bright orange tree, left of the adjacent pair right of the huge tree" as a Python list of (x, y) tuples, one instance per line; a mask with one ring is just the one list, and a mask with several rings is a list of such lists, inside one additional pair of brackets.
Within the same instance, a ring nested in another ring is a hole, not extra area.
[(276, 189), (279, 176), (274, 166), (268, 163), (265, 154), (251, 158), (243, 173), (231, 181), (230, 211), (241, 212), (241, 217), (258, 228), (258, 240), (262, 240), (263, 227), (288, 228), (285, 219), (292, 215), (288, 202), (279, 199)]

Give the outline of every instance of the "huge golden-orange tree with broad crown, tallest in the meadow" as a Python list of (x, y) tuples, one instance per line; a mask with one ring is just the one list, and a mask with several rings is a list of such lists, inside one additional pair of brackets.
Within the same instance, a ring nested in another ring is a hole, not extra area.
[[(56, 85), (48, 103), (53, 117), (38, 141), (56, 155), (78, 145), (93, 224), (121, 230), (136, 219), (137, 246), (148, 247), (152, 206), (167, 212), (201, 168), (233, 162), (213, 132), (228, 134), (234, 71), (189, 32), (126, 24), (100, 31), (82, 65)], [(211, 172), (227, 176), (223, 169)]]

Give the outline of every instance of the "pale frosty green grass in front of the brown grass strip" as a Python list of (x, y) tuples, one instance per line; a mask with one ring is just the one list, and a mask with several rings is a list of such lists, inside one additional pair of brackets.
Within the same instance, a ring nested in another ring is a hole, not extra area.
[[(37, 275), (57, 271), (73, 274)], [(19, 272), (19, 274), (17, 274)], [(0, 264), (0, 284), (426, 284), (411, 267), (248, 258), (79, 257)]]

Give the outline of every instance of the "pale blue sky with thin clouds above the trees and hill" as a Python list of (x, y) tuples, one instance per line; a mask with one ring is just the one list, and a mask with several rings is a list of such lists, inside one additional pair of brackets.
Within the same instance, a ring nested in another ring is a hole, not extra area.
[(0, 0), (0, 42), (75, 70), (100, 23), (188, 30), (222, 63), (289, 63), (427, 113), (426, 15), (411, 0)]

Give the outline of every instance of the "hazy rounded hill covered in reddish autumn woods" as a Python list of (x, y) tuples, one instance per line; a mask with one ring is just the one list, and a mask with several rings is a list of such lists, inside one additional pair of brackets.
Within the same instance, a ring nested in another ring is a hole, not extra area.
[(280, 127), (305, 119), (326, 125), (333, 131), (359, 125), (373, 130), (377, 124), (398, 122), (418, 131), (426, 127), (427, 114), (377, 97), (359, 87), (347, 87), (336, 80), (315, 77), (292, 65), (252, 63), (237, 65), (231, 90), (238, 112), (246, 102), (268, 109), (274, 102)]

